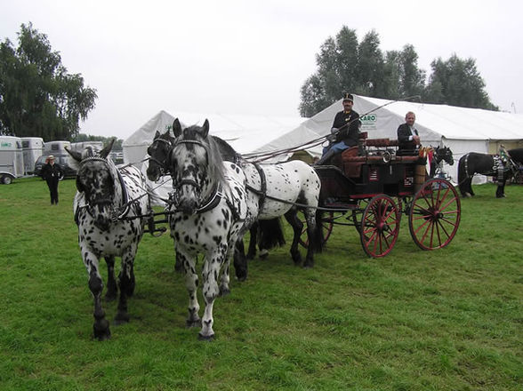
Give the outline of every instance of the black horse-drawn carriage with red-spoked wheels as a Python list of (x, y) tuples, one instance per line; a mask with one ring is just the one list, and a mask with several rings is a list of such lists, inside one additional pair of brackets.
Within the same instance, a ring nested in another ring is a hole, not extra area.
[(447, 246), (461, 217), (454, 186), (443, 178), (430, 178), (427, 156), (398, 155), (398, 140), (367, 140), (362, 132), (359, 141), (330, 164), (315, 166), (321, 180), (324, 242), (334, 225), (353, 226), (366, 254), (384, 257), (398, 239), (405, 214), (414, 243), (422, 250)]

